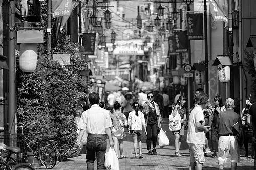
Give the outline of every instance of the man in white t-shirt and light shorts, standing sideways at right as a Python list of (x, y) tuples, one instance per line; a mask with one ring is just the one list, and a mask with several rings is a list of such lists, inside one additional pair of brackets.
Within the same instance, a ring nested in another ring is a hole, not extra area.
[(202, 169), (204, 158), (205, 134), (209, 132), (210, 126), (204, 126), (204, 112), (207, 108), (208, 95), (200, 93), (197, 95), (197, 104), (190, 113), (188, 120), (187, 139), (186, 142), (190, 151), (189, 170)]

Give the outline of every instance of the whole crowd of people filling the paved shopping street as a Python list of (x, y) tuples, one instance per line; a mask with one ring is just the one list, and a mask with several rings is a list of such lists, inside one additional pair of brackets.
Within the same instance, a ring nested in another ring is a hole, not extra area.
[[(107, 138), (110, 147), (114, 147), (117, 157), (124, 158), (123, 138), (126, 137), (125, 132), (133, 137), (134, 159), (144, 157), (141, 142), (143, 134), (146, 136), (147, 154), (157, 155), (157, 135), (161, 129), (161, 121), (169, 116), (176, 116), (176, 114), (180, 117), (181, 127), (172, 132), (175, 136), (174, 155), (182, 157), (179, 151), (181, 138), (186, 134), (186, 143), (190, 151), (189, 169), (202, 169), (205, 162), (204, 156), (207, 155), (213, 158), (217, 157), (219, 169), (222, 170), (228, 153), (231, 154), (231, 168), (236, 169), (237, 163), (240, 161), (240, 154), (237, 133), (233, 130), (235, 124), (243, 129), (245, 157), (249, 155), (248, 142), (251, 142), (253, 136), (252, 116), (250, 116), (252, 103), (249, 100), (246, 100), (246, 108), (241, 114), (234, 112), (234, 100), (231, 98), (223, 102), (221, 96), (217, 95), (213, 99), (214, 106), (212, 106), (208, 95), (202, 88), (196, 90), (193, 107), (188, 111), (184, 106), (187, 102), (184, 95), (177, 92), (176, 102), (172, 103), (172, 98), (167, 92), (164, 90), (161, 94), (158, 88), (152, 91), (133, 93), (124, 87), (122, 91), (109, 93), (106, 100), (107, 103), (104, 104), (99, 101), (97, 93), (89, 94), (91, 107), (82, 113), (78, 122), (79, 146), (82, 145), (84, 133), (87, 133), (88, 169), (93, 169), (95, 156), (98, 169), (104, 168)], [(208, 132), (211, 132), (211, 140), (209, 140), (210, 133)], [(211, 155), (208, 155), (211, 153), (208, 141), (211, 141), (213, 152)], [(137, 148), (139, 148), (139, 152)], [(254, 158), (253, 142), (250, 153), (251, 158)]]

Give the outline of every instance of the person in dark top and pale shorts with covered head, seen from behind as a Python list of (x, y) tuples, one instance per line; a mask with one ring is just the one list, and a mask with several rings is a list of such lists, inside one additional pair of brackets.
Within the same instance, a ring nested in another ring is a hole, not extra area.
[[(236, 134), (232, 131), (232, 126), (237, 122), (242, 125), (240, 115), (234, 112), (234, 100), (226, 99), (226, 111), (220, 112), (217, 120), (217, 127), (219, 132), (219, 146), (218, 146), (218, 161), (219, 169), (223, 170), (224, 162), (227, 161), (228, 154), (231, 155), (231, 169), (237, 168), (237, 163), (240, 162), (240, 153)], [(242, 128), (242, 126), (240, 127)]]

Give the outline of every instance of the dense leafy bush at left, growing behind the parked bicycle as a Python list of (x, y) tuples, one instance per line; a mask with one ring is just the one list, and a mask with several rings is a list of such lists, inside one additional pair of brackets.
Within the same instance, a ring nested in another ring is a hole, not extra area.
[[(79, 75), (87, 62), (80, 60), (76, 44), (69, 39), (66, 36), (62, 42), (57, 42), (53, 50), (70, 53), (71, 65), (61, 66), (45, 55), (38, 59), (35, 72), (17, 71), (18, 124), (35, 123), (25, 129), (28, 136), (32, 140), (48, 138), (57, 148), (62, 147), (63, 152), (76, 147), (78, 94), (87, 93), (88, 88), (88, 83)], [(42, 133), (38, 135), (38, 132)]]

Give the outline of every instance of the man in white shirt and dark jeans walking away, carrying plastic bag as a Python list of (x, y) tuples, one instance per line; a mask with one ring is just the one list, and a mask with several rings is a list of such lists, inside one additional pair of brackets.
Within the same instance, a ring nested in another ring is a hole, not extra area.
[(86, 132), (88, 134), (86, 144), (87, 169), (94, 169), (95, 153), (97, 157), (97, 169), (104, 169), (107, 135), (110, 140), (110, 146), (114, 146), (110, 129), (112, 122), (109, 111), (98, 105), (98, 93), (89, 94), (89, 102), (92, 105), (91, 108), (82, 113), (78, 123), (78, 128), (80, 129), (78, 146), (81, 146), (82, 136)]

